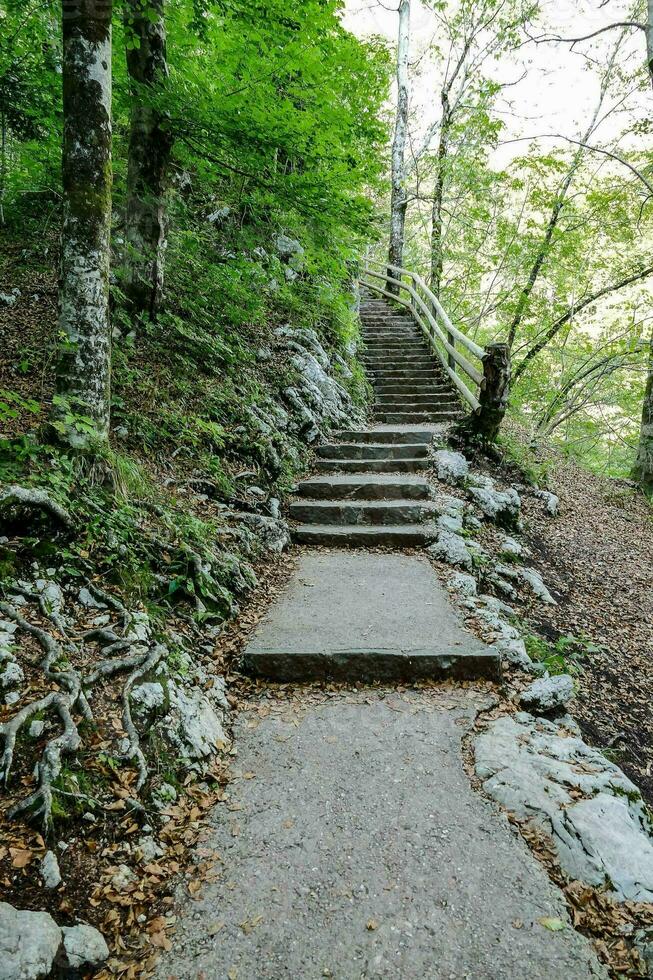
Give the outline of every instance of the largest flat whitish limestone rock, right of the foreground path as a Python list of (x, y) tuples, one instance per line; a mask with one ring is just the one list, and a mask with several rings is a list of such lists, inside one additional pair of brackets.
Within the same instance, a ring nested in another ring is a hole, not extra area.
[[(494, 719), (475, 746), (485, 791), (552, 837), (572, 877), (620, 901), (653, 900), (653, 840), (637, 787), (597, 749), (528, 714)], [(578, 792), (582, 794), (577, 798)]]

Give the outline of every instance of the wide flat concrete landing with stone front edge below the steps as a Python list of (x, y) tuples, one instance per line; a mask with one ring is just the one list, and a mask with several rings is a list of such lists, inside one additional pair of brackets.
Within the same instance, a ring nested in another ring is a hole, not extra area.
[(498, 680), (500, 658), (461, 626), (420, 555), (305, 552), (245, 650), (277, 681)]

